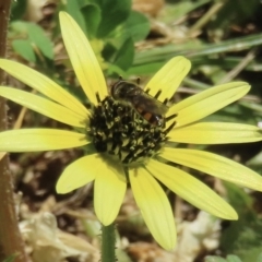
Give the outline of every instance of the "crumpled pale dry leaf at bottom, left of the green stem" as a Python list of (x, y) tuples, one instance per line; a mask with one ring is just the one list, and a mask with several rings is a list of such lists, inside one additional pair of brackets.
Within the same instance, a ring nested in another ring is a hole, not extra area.
[(98, 261), (98, 250), (84, 239), (59, 230), (51, 213), (40, 213), (22, 222), (21, 231), (32, 247), (34, 262), (60, 262), (68, 257), (79, 257), (80, 261)]

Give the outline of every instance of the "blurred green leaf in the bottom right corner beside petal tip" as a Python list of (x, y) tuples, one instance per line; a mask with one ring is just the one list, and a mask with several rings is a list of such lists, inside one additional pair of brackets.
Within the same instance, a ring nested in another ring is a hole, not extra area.
[(239, 187), (224, 182), (227, 198), (239, 214), (239, 221), (230, 222), (223, 231), (221, 246), (224, 252), (235, 253), (243, 262), (255, 261), (262, 247), (262, 219), (252, 207), (252, 198)]

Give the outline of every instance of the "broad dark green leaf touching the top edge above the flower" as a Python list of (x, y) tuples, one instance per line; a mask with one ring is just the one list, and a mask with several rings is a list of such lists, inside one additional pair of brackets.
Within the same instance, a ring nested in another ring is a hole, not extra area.
[(104, 38), (128, 19), (131, 11), (131, 0), (97, 0), (96, 3), (102, 10), (102, 22), (97, 36)]

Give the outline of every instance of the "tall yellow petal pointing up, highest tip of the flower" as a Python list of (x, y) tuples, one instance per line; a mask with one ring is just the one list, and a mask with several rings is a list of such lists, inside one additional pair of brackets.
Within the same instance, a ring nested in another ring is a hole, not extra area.
[(107, 95), (107, 85), (95, 53), (75, 21), (60, 12), (63, 41), (82, 88), (90, 100), (97, 105), (96, 94), (103, 100)]

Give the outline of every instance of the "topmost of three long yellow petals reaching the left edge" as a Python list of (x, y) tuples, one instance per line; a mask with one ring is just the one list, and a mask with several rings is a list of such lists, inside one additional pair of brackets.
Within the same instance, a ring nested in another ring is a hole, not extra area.
[(0, 68), (50, 99), (82, 116), (82, 118), (86, 118), (86, 116), (90, 115), (88, 110), (75, 97), (70, 95), (66, 90), (44, 74), (40, 74), (22, 63), (5, 59), (0, 59)]

